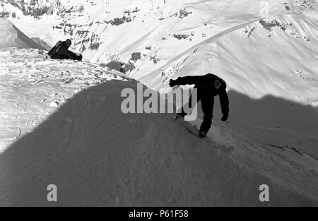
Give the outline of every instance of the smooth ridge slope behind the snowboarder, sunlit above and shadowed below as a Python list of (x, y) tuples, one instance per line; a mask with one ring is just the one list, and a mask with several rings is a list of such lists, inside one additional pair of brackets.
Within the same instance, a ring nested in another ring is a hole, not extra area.
[[(167, 92), (170, 78), (216, 73), (234, 95), (255, 101), (230, 96), (231, 129), (262, 143), (297, 146), (317, 158), (317, 20), (288, 15), (264, 21), (276, 26), (267, 30), (257, 21), (211, 37), (137, 79)], [(268, 97), (285, 101), (271, 102)], [(257, 100), (267, 101), (254, 105)], [(215, 110), (220, 114), (218, 105)]]

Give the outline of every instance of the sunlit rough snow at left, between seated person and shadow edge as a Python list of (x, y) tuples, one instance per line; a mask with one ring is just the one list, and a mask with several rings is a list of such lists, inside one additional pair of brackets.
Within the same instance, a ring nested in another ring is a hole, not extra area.
[(120, 78), (93, 64), (45, 58), (41, 49), (0, 49), (0, 153), (73, 94)]

